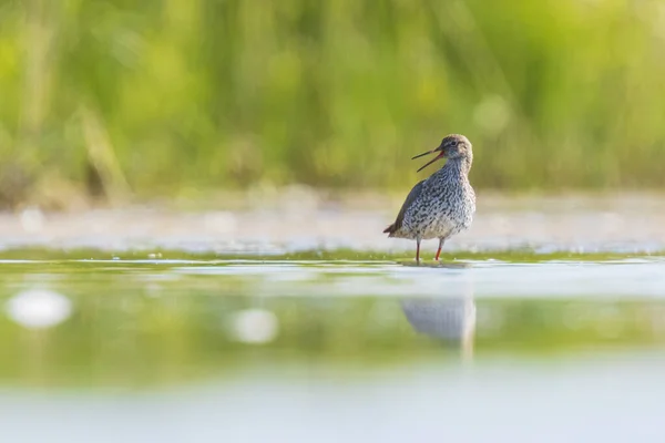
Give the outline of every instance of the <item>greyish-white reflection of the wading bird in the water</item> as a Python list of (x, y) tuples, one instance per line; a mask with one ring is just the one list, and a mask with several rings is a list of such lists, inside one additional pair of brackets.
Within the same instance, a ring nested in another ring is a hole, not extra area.
[(448, 344), (459, 344), (462, 359), (472, 360), (475, 302), (470, 284), (458, 293), (403, 299), (401, 308), (417, 332)]

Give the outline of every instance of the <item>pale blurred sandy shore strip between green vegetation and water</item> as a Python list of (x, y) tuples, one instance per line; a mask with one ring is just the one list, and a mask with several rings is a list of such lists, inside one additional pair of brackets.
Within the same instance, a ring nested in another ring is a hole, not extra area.
[[(182, 203), (43, 213), (27, 208), (0, 215), (0, 246), (109, 250), (174, 248), (187, 251), (283, 253), (352, 248), (396, 251), (408, 240), (387, 239), (401, 200), (355, 195), (326, 198), (307, 189), (235, 195), (201, 205)], [(426, 244), (426, 248), (434, 248)], [(665, 198), (646, 194), (511, 197), (480, 194), (472, 228), (448, 250), (531, 247), (539, 251), (665, 249)]]

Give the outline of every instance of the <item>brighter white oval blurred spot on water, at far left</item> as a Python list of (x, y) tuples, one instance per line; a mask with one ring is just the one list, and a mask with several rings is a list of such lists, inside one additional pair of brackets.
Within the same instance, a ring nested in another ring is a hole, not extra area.
[(72, 315), (72, 302), (48, 289), (30, 289), (10, 298), (7, 316), (29, 329), (45, 329), (62, 323)]

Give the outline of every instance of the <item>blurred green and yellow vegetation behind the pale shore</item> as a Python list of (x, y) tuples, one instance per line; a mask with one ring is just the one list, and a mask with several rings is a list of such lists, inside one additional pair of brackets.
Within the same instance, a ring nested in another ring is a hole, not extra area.
[(0, 0), (0, 202), (398, 188), (451, 132), (479, 187), (661, 186), (664, 30), (658, 0)]

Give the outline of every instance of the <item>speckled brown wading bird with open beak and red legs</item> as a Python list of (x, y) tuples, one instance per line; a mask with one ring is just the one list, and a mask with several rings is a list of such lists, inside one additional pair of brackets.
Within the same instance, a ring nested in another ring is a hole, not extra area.
[(475, 193), (469, 182), (469, 172), (473, 163), (471, 142), (463, 135), (450, 134), (441, 144), (411, 159), (437, 154), (418, 172), (446, 158), (446, 164), (419, 182), (405, 200), (395, 223), (383, 234), (392, 238), (416, 240), (416, 262), (420, 264), (420, 241), (439, 239), (436, 260), (447, 239), (471, 226), (475, 214)]

